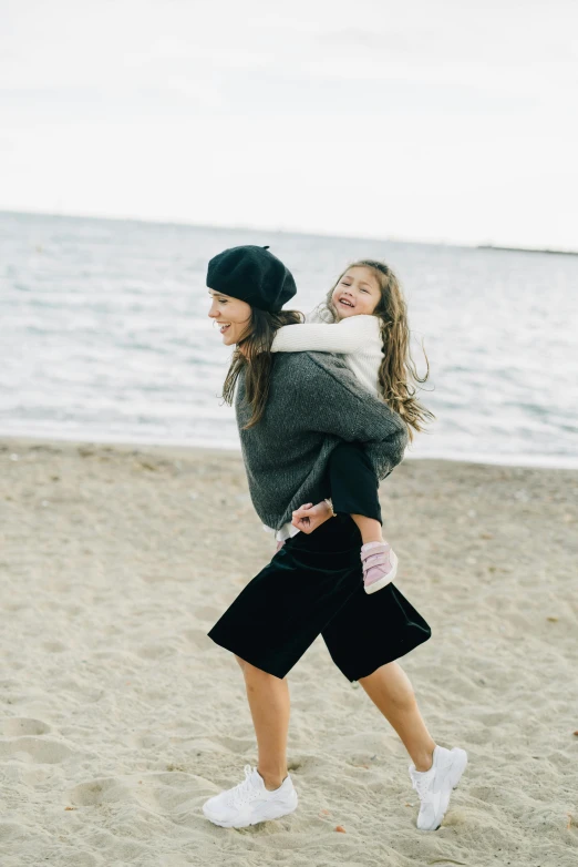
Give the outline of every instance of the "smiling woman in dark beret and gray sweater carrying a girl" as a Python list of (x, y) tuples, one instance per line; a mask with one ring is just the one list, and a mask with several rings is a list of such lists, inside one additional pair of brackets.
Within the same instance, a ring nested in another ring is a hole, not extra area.
[[(209, 316), (224, 343), (237, 347), (224, 395), (233, 401), (236, 392), (249, 491), (261, 521), (280, 528), (301, 503), (329, 497), (331, 456), (343, 441), (363, 443), (374, 473), (385, 478), (403, 457), (401, 418), (339, 357), (270, 353), (276, 330), (301, 320), (281, 309), (296, 294), (285, 265), (268, 248), (234, 247), (210, 261), (207, 286)], [(296, 809), (286, 755), (287, 674), (321, 634), (340, 671), (359, 681), (405, 745), (421, 799), (417, 827), (440, 827), (467, 757), (436, 745), (427, 732), (394, 661), (426, 641), (430, 628), (393, 583), (374, 596), (364, 592), (360, 539), (343, 513), (309, 536), (293, 536), (208, 633), (242, 670), (258, 745), (257, 767), (247, 765), (241, 783), (205, 803), (213, 823), (246, 827)]]

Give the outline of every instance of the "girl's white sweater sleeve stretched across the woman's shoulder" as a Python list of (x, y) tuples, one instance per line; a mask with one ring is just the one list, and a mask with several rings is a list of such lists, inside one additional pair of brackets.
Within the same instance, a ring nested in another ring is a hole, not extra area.
[(374, 316), (349, 316), (339, 323), (306, 323), (279, 328), (271, 353), (355, 353), (376, 339)]

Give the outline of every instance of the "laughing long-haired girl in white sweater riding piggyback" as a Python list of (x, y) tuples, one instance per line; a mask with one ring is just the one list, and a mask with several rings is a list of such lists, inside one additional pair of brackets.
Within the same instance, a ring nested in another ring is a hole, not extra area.
[[(415, 398), (417, 376), (410, 351), (407, 313), (402, 290), (391, 268), (375, 259), (353, 263), (329, 290), (326, 300), (303, 325), (287, 325), (277, 332), (272, 353), (338, 353), (364, 388), (380, 396), (414, 430), (433, 418)], [(332, 500), (305, 503), (293, 512), (291, 523), (277, 534), (278, 548), (300, 530), (312, 532), (321, 523), (348, 509), (363, 541), (363, 584), (373, 593), (394, 580), (398, 558), (382, 536), (376, 494), (378, 480), (363, 450), (344, 443), (329, 467)], [(373, 496), (372, 496), (373, 494)], [(338, 503), (339, 500), (339, 503)], [(359, 506), (359, 510), (358, 507)], [(349, 508), (351, 507), (351, 508)], [(359, 513), (358, 513), (359, 512)]]

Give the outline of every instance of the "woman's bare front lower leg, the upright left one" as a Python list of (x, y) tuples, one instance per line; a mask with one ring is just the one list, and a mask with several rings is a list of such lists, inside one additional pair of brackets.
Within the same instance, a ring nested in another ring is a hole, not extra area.
[(245, 676), (247, 698), (257, 735), (257, 771), (265, 781), (265, 787), (272, 792), (279, 788), (287, 776), (289, 684), (287, 677), (281, 680), (256, 669), (239, 656), (235, 659)]

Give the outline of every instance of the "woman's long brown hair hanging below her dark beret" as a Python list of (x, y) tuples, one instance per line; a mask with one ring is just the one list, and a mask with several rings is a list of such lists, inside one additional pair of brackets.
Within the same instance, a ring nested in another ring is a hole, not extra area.
[(244, 430), (257, 425), (265, 412), (273, 364), (271, 344), (277, 329), (283, 325), (302, 323), (303, 319), (299, 310), (267, 313), (251, 307), (248, 335), (237, 344), (223, 386), (225, 402), (231, 406), (239, 374), (245, 370), (245, 395), (252, 414)]

